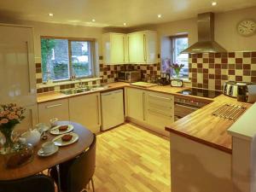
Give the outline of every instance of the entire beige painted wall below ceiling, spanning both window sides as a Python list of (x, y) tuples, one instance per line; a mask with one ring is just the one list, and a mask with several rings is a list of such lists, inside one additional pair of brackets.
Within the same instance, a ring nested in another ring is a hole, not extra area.
[[(236, 25), (244, 19), (256, 20), (256, 7), (249, 9), (240, 9), (221, 14), (215, 17), (215, 40), (224, 46), (228, 51), (256, 50), (256, 35), (251, 37), (241, 37), (236, 32)], [(6, 22), (6, 20), (5, 20)], [(10, 21), (13, 22), (13, 21)], [(34, 26), (35, 34), (35, 55), (40, 57), (40, 36), (74, 37), (74, 38), (96, 38), (99, 46), (99, 55), (102, 55), (102, 32), (125, 32), (120, 28), (100, 28), (90, 26), (71, 26), (61, 24), (48, 24), (32, 21), (15, 21), (19, 24)], [(156, 30), (159, 35), (159, 42), (166, 36), (176, 35), (186, 32), (189, 34), (189, 44), (197, 41), (197, 22), (196, 18), (188, 20), (177, 20), (151, 26), (139, 26), (127, 29), (126, 32), (135, 32), (140, 30)], [(160, 47), (160, 44), (159, 44)]]

